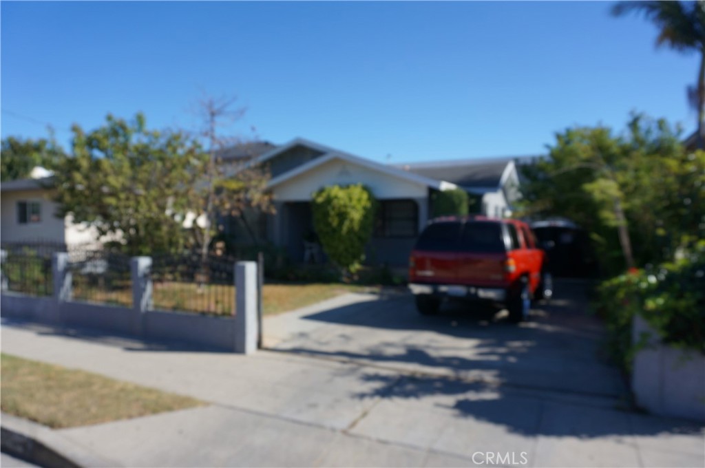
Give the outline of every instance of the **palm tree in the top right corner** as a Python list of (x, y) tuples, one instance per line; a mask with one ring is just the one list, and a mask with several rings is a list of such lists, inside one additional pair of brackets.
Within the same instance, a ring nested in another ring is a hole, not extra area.
[(698, 147), (705, 149), (705, 0), (620, 1), (612, 9), (615, 16), (633, 11), (644, 13), (659, 28), (657, 47), (700, 54), (697, 84), (689, 87), (688, 97), (698, 114)]

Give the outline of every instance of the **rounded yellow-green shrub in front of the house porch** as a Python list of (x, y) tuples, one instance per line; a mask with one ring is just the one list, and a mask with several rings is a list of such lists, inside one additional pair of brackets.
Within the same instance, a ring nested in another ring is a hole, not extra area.
[(313, 223), (321, 247), (344, 274), (360, 269), (375, 208), (372, 192), (362, 184), (324, 187), (313, 195)]

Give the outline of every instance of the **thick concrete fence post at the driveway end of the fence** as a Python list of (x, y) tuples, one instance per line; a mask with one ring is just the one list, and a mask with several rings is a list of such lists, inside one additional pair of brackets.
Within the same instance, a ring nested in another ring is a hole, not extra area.
[(234, 349), (249, 355), (257, 350), (257, 263), (235, 264), (235, 336)]

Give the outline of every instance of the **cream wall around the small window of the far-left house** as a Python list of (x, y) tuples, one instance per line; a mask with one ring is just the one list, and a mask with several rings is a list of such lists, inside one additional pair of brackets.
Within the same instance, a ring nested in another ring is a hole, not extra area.
[[(42, 221), (18, 223), (17, 202), (39, 202)], [(66, 242), (64, 220), (56, 218), (56, 203), (46, 190), (2, 192), (0, 197), (0, 239), (4, 242)]]

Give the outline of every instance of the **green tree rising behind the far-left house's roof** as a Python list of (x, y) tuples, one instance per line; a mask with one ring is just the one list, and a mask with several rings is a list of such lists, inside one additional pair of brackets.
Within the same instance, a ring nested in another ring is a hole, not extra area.
[(28, 178), (35, 166), (54, 169), (63, 156), (63, 150), (56, 144), (53, 135), (49, 140), (7, 137), (2, 140), (0, 151), (0, 180)]

